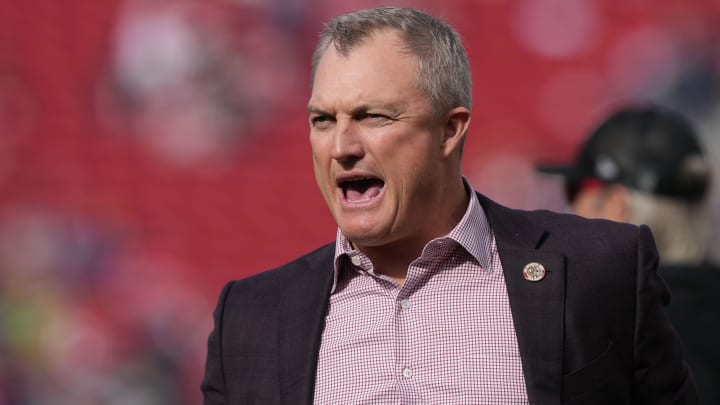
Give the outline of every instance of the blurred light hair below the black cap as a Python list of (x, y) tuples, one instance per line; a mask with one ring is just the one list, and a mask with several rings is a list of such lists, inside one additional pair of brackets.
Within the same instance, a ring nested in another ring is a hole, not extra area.
[(628, 222), (650, 227), (662, 264), (700, 264), (706, 259), (709, 220), (702, 202), (632, 189), (628, 197)]

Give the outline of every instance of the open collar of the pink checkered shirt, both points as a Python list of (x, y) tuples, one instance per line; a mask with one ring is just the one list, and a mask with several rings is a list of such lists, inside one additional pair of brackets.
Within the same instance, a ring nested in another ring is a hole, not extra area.
[[(465, 184), (466, 192), (470, 195), (470, 201), (468, 202), (465, 214), (449, 234), (438, 239), (449, 238), (454, 240), (472, 255), (483, 269), (491, 271), (493, 235), (490, 230), (490, 224), (485, 215), (485, 210), (483, 210), (480, 205), (477, 193), (470, 185), (470, 182), (468, 182), (466, 178), (463, 178), (463, 183)], [(343, 256), (353, 257), (358, 254), (360, 254), (360, 252), (352, 247), (350, 241), (343, 235), (340, 228), (338, 228), (335, 239), (334, 275), (331, 292), (335, 291)]]

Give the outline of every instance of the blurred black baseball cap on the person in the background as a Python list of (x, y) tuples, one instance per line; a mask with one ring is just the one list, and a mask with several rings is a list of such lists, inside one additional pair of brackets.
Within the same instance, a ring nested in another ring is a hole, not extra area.
[(540, 164), (543, 173), (577, 185), (586, 179), (620, 183), (651, 194), (702, 199), (710, 165), (687, 118), (649, 105), (621, 109), (590, 135), (571, 165)]

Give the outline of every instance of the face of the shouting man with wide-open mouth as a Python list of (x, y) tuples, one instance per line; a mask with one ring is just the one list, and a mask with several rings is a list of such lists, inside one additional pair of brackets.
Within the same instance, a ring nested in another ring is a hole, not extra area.
[[(308, 105), (318, 186), (361, 250), (427, 241), (451, 229), (438, 213), (448, 207), (449, 179), (460, 179), (453, 169), (462, 136), (449, 136), (448, 115), (437, 116), (418, 89), (415, 57), (403, 45), (387, 29), (347, 56), (331, 44)], [(469, 114), (463, 116), (465, 125)]]

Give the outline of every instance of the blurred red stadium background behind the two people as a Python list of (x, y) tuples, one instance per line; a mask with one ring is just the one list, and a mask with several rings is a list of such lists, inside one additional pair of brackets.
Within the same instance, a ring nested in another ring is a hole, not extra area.
[[(436, 3), (394, 4), (463, 36), (465, 172), (491, 198), (566, 210), (533, 163), (636, 100), (687, 113), (717, 160), (717, 1)], [(310, 54), (323, 21), (379, 4), (0, 0), (0, 405), (200, 402), (222, 285), (335, 236)]]

